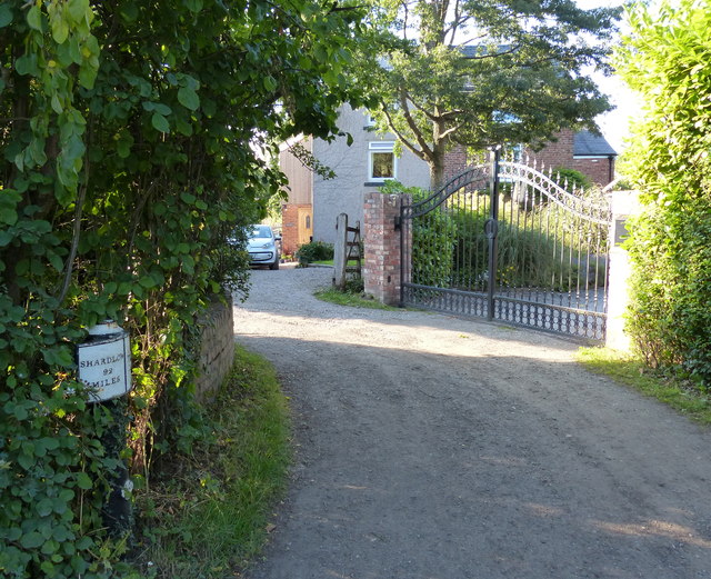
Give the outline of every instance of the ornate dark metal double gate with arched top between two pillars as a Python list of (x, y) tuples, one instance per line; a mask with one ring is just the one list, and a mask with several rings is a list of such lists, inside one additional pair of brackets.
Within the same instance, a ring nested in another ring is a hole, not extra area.
[(610, 203), (492, 153), (403, 203), (403, 306), (602, 340)]

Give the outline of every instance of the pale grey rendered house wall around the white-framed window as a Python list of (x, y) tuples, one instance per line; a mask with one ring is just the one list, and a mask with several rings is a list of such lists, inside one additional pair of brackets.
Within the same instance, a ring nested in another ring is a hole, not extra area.
[[(378, 184), (369, 183), (369, 149), (371, 141), (394, 141), (392, 134), (378, 134), (367, 129), (364, 112), (344, 107), (339, 117), (339, 128), (353, 137), (348, 147), (346, 138), (332, 142), (320, 139), (313, 141), (313, 156), (336, 171), (336, 179), (324, 180), (313, 177), (313, 239), (332, 243), (336, 240), (336, 218), (347, 213), (349, 224), (363, 222), (363, 197), (365, 192), (378, 190)], [(424, 161), (410, 151), (403, 150), (397, 162), (397, 178), (403, 184), (428, 188), (430, 171)], [(369, 184), (367, 184), (369, 183)]]

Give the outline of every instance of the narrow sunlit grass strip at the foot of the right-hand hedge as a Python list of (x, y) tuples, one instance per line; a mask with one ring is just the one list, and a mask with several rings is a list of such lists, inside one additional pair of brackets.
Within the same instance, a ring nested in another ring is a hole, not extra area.
[(577, 359), (595, 373), (657, 398), (693, 420), (711, 423), (711, 396), (688, 380), (651, 370), (641, 360), (609, 348), (581, 348)]

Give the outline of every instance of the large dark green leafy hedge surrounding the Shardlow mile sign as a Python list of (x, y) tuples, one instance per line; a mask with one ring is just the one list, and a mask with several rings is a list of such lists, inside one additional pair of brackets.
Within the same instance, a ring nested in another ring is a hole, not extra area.
[(73, 345), (130, 331), (138, 482), (198, 432), (196, 317), (246, 290), (226, 243), (281, 184), (259, 149), (328, 138), (359, 10), (311, 0), (0, 4), (0, 576), (128, 577), (100, 507), (111, 425)]

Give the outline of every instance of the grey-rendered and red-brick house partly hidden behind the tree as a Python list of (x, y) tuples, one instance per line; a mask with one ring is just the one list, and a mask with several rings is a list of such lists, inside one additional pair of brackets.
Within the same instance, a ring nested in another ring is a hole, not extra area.
[[(403, 149), (398, 154), (395, 137), (381, 136), (372, 128), (367, 111), (346, 106), (339, 127), (352, 136), (351, 147), (346, 138), (332, 142), (302, 138), (300, 144), (322, 164), (331, 168), (337, 178), (326, 180), (303, 164), (284, 146), (279, 167), (289, 179), (289, 200), (282, 206), (282, 251), (293, 253), (310, 240), (333, 242), (336, 218), (348, 213), (349, 223), (363, 222), (363, 200), (388, 179), (397, 179), (408, 187), (429, 188), (430, 173), (424, 161)], [(602, 136), (588, 131), (561, 131), (557, 140), (540, 151), (527, 151), (538, 166), (547, 169), (565, 167), (587, 174), (591, 181), (605, 186), (614, 178), (617, 153)], [(445, 178), (453, 177), (468, 166), (463, 147), (447, 154)]]

